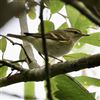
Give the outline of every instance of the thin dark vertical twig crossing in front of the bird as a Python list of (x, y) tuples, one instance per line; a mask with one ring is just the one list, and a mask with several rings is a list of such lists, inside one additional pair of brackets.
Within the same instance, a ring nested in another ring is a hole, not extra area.
[(44, 2), (41, 0), (40, 2), (40, 20), (41, 20), (41, 36), (42, 36), (42, 44), (43, 44), (43, 52), (45, 56), (45, 73), (46, 73), (46, 82), (47, 82), (47, 98), (48, 100), (53, 100), (52, 94), (51, 94), (51, 84), (50, 84), (50, 71), (49, 71), (49, 64), (48, 64), (48, 52), (47, 52), (47, 46), (46, 46), (46, 39), (45, 39), (45, 33), (44, 33), (44, 22), (43, 22), (43, 9), (44, 9)]

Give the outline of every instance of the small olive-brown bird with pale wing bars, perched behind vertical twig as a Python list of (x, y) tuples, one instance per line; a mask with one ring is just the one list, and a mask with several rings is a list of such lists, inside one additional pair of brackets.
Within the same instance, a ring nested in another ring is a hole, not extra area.
[[(42, 39), (40, 33), (24, 33), (24, 35), (7, 34), (9, 37), (18, 38), (31, 43), (38, 52), (43, 54)], [(45, 34), (47, 51), (49, 56), (60, 57), (68, 53), (74, 44), (83, 36), (82, 32), (75, 28), (54, 30)]]

